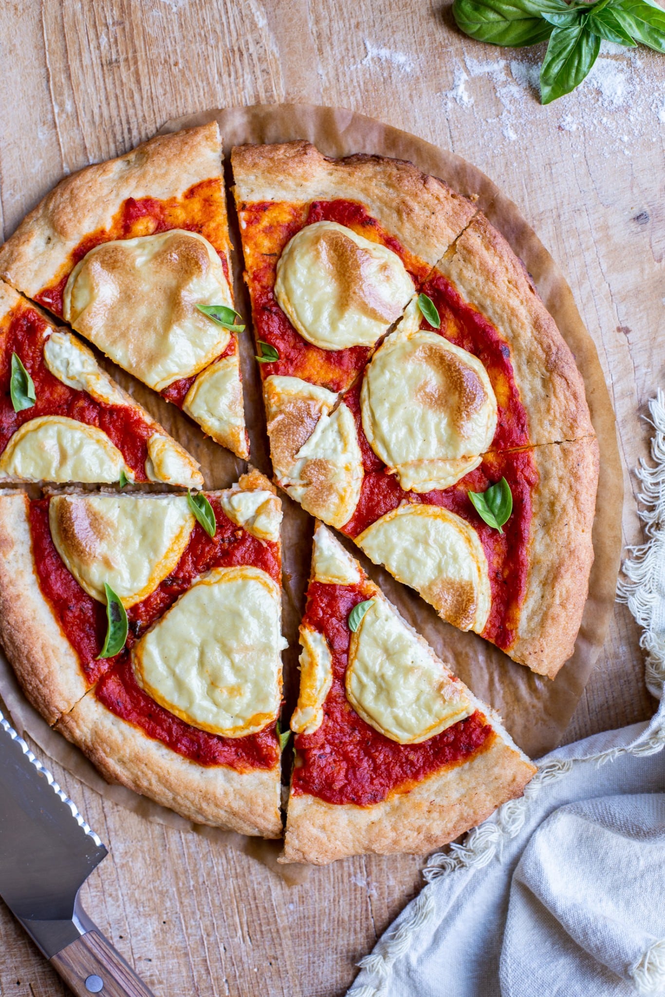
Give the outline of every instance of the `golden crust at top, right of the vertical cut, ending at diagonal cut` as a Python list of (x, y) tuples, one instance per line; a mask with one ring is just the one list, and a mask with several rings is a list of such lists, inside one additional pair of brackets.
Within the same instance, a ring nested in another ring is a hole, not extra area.
[(362, 201), (405, 249), (434, 265), (476, 208), (412, 163), (381, 156), (332, 160), (308, 142), (238, 146), (231, 151), (238, 203), (257, 200)]

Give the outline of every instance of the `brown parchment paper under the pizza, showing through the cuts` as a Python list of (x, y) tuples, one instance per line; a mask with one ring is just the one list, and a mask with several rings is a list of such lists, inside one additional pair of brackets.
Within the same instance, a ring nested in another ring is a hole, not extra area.
[[(499, 710), (516, 743), (532, 758), (537, 758), (559, 743), (598, 657), (612, 613), (621, 552), (623, 485), (614, 414), (595, 345), (584, 328), (570, 288), (517, 206), (501, 193), (485, 173), (447, 150), (438, 149), (406, 132), (351, 111), (309, 105), (259, 105), (209, 111), (168, 122), (162, 131), (175, 132), (212, 119), (219, 123), (223, 137), (229, 185), (232, 180), (228, 157), (233, 146), (307, 139), (327, 156), (371, 153), (410, 160), (425, 172), (446, 180), (456, 190), (474, 196), (523, 260), (545, 306), (575, 355), (584, 378), (591, 420), (600, 446), (600, 483), (593, 525), (595, 560), (574, 653), (553, 682), (514, 664), (498, 648), (486, 643), (476, 634), (461, 633), (444, 623), (434, 609), (413, 590), (400, 585), (387, 571), (367, 560), (350, 542), (346, 543), (362, 561), (368, 573), (381, 585), (388, 598), (425, 636), (437, 653), (453, 664), (457, 674), (478, 696)], [(248, 321), (250, 308), (242, 283), (242, 252), (230, 194), (228, 201), (231, 236), (236, 247), (233, 261), (235, 298), (238, 310)], [(269, 477), (270, 462), (258, 365), (253, 360), (253, 343), (249, 330), (240, 337), (240, 348), (251, 462)], [(242, 461), (205, 439), (198, 428), (174, 406), (167, 405), (159, 396), (112, 364), (107, 363), (106, 366), (166, 430), (200, 461), (208, 489), (226, 488), (237, 480), (245, 470)], [(290, 709), (297, 698), (297, 632), (309, 575), (313, 520), (288, 497), (282, 495), (281, 498), (284, 504), (283, 624), (284, 635), (289, 641), (289, 648), (284, 652), (284, 689)], [(197, 831), (252, 854), (278, 871), (287, 881), (300, 881), (306, 874), (302, 866), (275, 864), (279, 842), (257, 841), (240, 834), (195, 827), (124, 787), (109, 786), (78, 749), (51, 731), (30, 707), (4, 658), (0, 659), (0, 696), (17, 729), (27, 733), (47, 755), (106, 799), (113, 800), (148, 820), (173, 828)]]

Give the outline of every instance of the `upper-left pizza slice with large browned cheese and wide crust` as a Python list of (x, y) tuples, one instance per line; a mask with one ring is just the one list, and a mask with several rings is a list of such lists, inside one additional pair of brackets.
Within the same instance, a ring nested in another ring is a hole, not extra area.
[(216, 123), (67, 176), (0, 248), (0, 276), (248, 456)]

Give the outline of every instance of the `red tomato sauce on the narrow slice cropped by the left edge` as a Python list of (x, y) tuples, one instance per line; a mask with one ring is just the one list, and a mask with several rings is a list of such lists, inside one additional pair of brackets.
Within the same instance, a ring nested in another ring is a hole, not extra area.
[[(148, 441), (155, 428), (128, 406), (98, 402), (85, 391), (63, 384), (44, 362), (49, 324), (29, 305), (15, 308), (0, 328), (0, 453), (24, 423), (39, 416), (66, 416), (103, 430), (118, 448), (138, 482), (148, 481)], [(14, 412), (9, 383), (12, 353), (16, 353), (35, 384), (36, 402)]]

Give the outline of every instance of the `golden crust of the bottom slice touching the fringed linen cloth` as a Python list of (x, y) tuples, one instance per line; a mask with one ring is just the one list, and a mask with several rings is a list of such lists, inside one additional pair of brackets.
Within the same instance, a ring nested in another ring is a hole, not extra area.
[(324, 865), (367, 852), (427, 854), (521, 796), (534, 772), (496, 735), (471, 762), (450, 766), (409, 793), (371, 807), (291, 795), (280, 860)]

